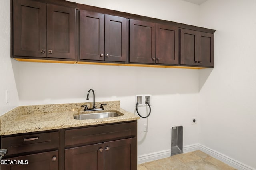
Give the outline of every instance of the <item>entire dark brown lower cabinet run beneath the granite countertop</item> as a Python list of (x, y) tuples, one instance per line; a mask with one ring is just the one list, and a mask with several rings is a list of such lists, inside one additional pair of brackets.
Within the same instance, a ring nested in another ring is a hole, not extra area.
[(4, 135), (1, 148), (1, 170), (136, 170), (137, 121)]

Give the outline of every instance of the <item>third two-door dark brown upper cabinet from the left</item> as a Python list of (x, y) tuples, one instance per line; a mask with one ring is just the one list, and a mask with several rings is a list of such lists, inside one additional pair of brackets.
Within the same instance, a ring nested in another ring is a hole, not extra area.
[(130, 20), (130, 63), (179, 64), (178, 27)]

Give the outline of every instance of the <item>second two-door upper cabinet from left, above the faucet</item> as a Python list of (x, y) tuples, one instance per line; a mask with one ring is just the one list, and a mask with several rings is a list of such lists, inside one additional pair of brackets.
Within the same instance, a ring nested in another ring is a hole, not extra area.
[(126, 18), (80, 10), (80, 59), (125, 62)]

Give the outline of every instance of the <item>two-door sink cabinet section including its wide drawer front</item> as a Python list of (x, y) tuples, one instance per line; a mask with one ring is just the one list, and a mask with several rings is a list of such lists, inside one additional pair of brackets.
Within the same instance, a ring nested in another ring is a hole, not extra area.
[(136, 170), (137, 121), (65, 131), (65, 170)]

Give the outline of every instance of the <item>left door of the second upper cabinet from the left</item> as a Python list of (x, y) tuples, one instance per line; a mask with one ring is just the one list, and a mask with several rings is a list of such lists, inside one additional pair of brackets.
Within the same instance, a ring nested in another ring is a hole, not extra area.
[(80, 59), (104, 60), (104, 14), (80, 10)]

